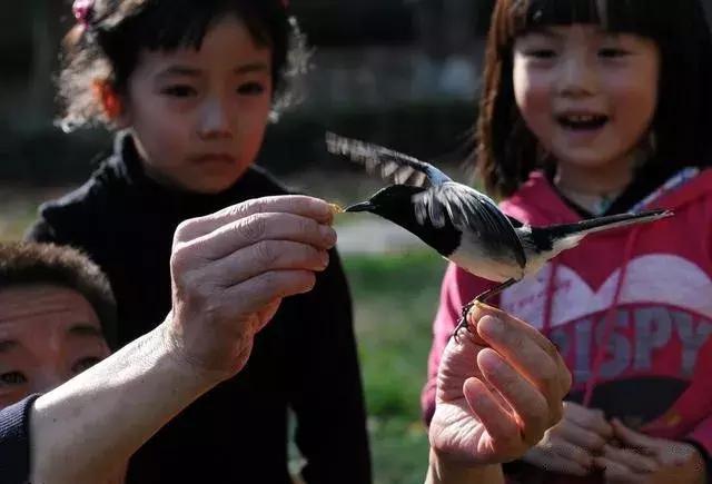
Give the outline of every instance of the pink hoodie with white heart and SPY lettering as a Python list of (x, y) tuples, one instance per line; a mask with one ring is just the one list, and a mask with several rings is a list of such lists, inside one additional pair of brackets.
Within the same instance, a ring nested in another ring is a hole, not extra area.
[[(592, 235), (492, 303), (556, 343), (574, 377), (567, 399), (712, 454), (712, 169), (678, 181), (642, 207), (674, 217)], [(533, 226), (581, 219), (538, 172), (502, 209)], [(461, 307), (492, 285), (453, 265), (445, 274), (422, 395), (428, 423)]]

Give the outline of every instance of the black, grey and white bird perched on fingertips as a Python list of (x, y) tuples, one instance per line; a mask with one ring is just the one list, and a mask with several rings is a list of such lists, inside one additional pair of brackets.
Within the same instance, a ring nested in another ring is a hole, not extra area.
[(333, 132), (327, 132), (326, 145), (330, 154), (345, 156), (393, 182), (344, 211), (380, 216), (467, 273), (500, 283), (463, 306), (455, 336), (467, 329), (466, 317), (473, 306), (538, 271), (584, 237), (673, 216), (671, 210), (660, 209), (532, 227), (505, 215), (487, 195), (453, 180), (432, 164)]

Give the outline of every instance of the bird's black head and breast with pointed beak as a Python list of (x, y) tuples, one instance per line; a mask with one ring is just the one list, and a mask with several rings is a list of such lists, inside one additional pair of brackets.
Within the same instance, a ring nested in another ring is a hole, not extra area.
[(417, 236), (441, 255), (447, 257), (459, 246), (462, 234), (449, 219), (442, 227), (435, 227), (429, 219), (423, 223), (416, 218), (414, 197), (425, 188), (409, 185), (392, 185), (378, 191), (367, 201), (352, 205), (345, 211), (368, 211), (378, 215)]

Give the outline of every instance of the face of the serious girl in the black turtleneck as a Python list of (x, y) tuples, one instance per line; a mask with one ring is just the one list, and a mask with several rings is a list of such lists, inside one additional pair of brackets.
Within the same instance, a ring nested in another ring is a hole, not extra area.
[(121, 121), (147, 174), (196, 192), (229, 188), (253, 164), (271, 109), (271, 51), (226, 16), (200, 50), (142, 52)]

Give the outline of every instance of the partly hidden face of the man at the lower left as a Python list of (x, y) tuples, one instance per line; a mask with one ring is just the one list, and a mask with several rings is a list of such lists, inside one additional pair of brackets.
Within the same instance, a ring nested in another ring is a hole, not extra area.
[(0, 408), (49, 392), (109, 353), (79, 293), (51, 285), (0, 290)]

